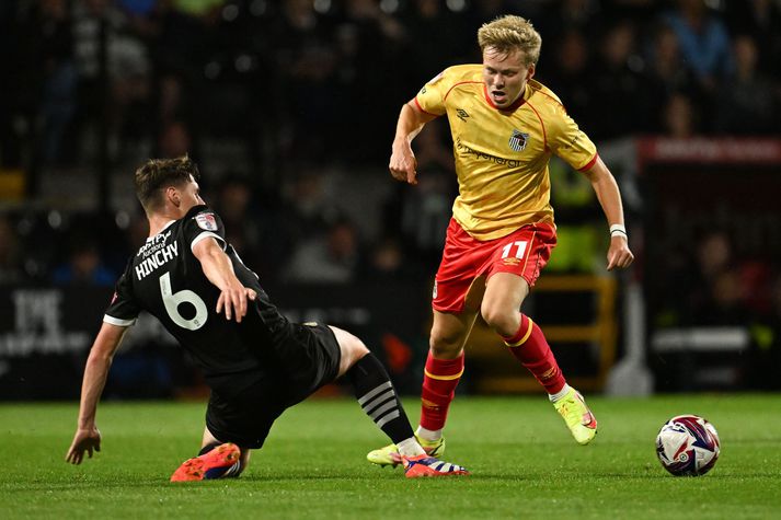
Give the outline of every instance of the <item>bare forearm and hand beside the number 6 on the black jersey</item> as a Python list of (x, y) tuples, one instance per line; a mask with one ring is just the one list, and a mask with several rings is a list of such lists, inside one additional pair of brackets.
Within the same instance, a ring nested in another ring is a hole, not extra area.
[(193, 246), (193, 254), (200, 262), (204, 275), (219, 290), (217, 313), (225, 309), (226, 320), (234, 317), (238, 323), (246, 315), (246, 299), (254, 300), (255, 291), (241, 285), (233, 271), (233, 264), (215, 239), (202, 240)]

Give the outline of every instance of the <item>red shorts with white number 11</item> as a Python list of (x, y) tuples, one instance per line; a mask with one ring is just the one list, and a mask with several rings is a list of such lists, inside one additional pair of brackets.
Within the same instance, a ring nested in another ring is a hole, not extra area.
[(507, 236), (480, 241), (450, 219), (432, 307), (439, 312), (463, 311), (472, 281), (479, 276), (487, 280), (495, 273), (514, 273), (532, 287), (555, 244), (551, 223), (524, 226)]

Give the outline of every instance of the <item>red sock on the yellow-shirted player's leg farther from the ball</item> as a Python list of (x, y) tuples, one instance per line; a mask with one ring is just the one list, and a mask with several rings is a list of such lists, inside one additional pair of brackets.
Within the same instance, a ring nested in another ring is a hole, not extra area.
[(456, 359), (435, 359), (428, 351), (421, 391), (421, 426), (429, 430), (445, 427), (450, 402), (463, 373), (463, 354)]

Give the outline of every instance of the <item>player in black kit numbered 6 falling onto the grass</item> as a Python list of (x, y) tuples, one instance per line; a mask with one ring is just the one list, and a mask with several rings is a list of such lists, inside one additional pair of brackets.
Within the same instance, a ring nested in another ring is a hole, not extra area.
[(143, 310), (192, 355), (211, 389), (202, 449), (171, 481), (238, 476), (279, 415), (345, 375), (358, 404), (399, 446), (407, 477), (467, 474), (427, 455), (388, 372), (352, 334), (297, 324), (268, 300), (257, 276), (226, 242), (222, 222), (198, 193), (188, 158), (150, 160), (136, 171), (149, 238), (116, 285), (84, 370), (79, 421), (66, 460), (100, 451), (97, 402), (112, 358)]

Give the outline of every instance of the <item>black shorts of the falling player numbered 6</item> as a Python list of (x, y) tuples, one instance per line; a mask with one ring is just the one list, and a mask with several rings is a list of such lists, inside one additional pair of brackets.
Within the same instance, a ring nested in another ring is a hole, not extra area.
[[(261, 448), (274, 421), (338, 375), (342, 351), (328, 325), (292, 325), (280, 351), (284, 367), (253, 373), (252, 383), (230, 397), (211, 392), (206, 427), (221, 442)], [(244, 380), (246, 381), (246, 380)]]

